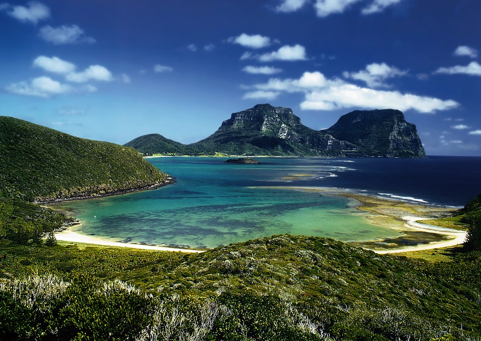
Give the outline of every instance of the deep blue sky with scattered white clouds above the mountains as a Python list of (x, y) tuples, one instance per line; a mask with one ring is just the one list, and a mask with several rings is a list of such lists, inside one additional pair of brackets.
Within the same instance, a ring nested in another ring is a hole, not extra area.
[(394, 108), (428, 155), (481, 156), (480, 13), (480, 0), (0, 2), (0, 115), (192, 143), (257, 103), (317, 130)]

